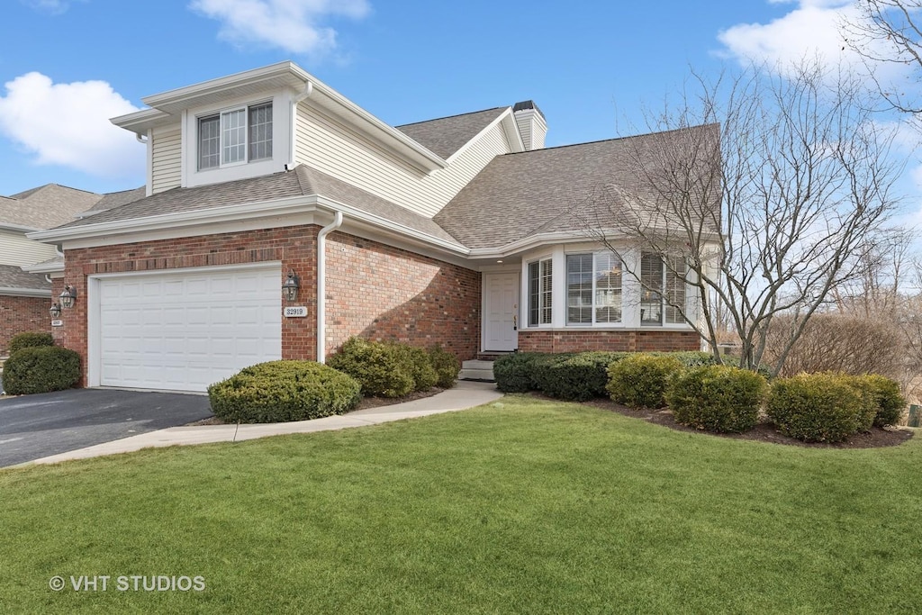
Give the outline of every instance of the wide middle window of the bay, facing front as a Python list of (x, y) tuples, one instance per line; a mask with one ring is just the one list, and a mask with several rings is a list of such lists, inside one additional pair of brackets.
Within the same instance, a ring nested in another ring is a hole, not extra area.
[(567, 255), (567, 324), (621, 322), (621, 260), (614, 254)]

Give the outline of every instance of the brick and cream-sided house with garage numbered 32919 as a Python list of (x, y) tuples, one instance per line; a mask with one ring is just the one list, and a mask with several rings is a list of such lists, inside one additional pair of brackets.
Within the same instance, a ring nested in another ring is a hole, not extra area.
[(86, 385), (202, 391), (354, 335), (462, 360), (700, 348), (622, 275), (675, 286), (659, 256), (622, 264), (568, 208), (647, 137), (544, 148), (532, 101), (391, 126), (290, 62), (144, 102), (112, 122), (147, 143), (146, 196), (29, 234), (65, 254), (54, 335)]

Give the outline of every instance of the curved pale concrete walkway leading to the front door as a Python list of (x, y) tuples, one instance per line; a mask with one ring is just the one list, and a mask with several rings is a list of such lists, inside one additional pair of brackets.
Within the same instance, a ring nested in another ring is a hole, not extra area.
[(254, 425), (197, 425), (194, 427), (171, 427), (158, 432), (141, 433), (122, 440), (113, 440), (105, 444), (88, 446), (87, 448), (69, 451), (60, 455), (52, 455), (36, 459), (22, 466), (31, 464), (54, 464), (69, 459), (86, 459), (102, 455), (115, 455), (117, 453), (130, 453), (142, 448), (175, 446), (178, 444), (207, 444), (214, 442), (240, 442), (264, 438), (269, 435), (282, 435), (285, 433), (310, 433), (341, 430), (348, 427), (361, 427), (363, 425), (377, 425), (392, 420), (414, 419), (430, 414), (454, 412), (474, 408), (481, 404), (488, 404), (502, 397), (496, 390), (496, 384), (474, 383), (460, 381), (455, 388), (443, 391), (438, 395), (416, 399), (414, 401), (383, 406), (381, 408), (368, 408), (357, 410), (341, 416), (325, 417), (324, 419), (300, 420), (290, 423), (263, 423)]

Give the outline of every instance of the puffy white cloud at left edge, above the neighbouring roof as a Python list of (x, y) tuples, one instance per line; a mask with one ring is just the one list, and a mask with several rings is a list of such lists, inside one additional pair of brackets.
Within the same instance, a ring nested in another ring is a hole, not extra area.
[(144, 172), (144, 148), (109, 118), (137, 111), (105, 81), (53, 83), (28, 73), (6, 83), (0, 96), (0, 133), (35, 155), (93, 175)]

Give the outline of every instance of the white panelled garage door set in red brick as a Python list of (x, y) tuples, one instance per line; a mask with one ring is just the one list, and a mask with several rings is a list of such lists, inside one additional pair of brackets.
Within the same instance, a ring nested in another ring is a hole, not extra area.
[(204, 391), (281, 358), (279, 266), (100, 279), (100, 384)]

